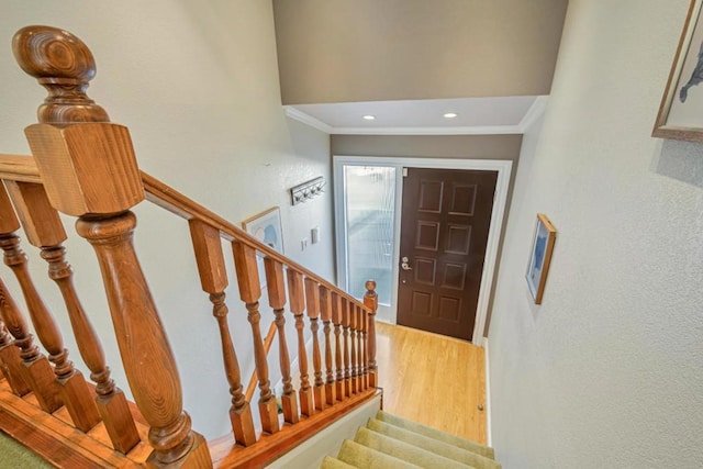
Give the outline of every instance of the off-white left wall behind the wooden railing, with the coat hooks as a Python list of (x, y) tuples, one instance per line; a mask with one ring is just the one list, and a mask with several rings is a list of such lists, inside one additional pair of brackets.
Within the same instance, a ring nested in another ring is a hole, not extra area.
[[(287, 254), (333, 277), (330, 193), (292, 208), (287, 191), (316, 176), (330, 180), (328, 137), (283, 115), (270, 2), (0, 0), (0, 11), (1, 153), (29, 154), (23, 129), (36, 121), (35, 109), (45, 97), (16, 67), (11, 37), (27, 24), (64, 27), (91, 47), (98, 75), (89, 96), (113, 122), (130, 127), (142, 169), (235, 223), (280, 205)], [(196, 428), (219, 436), (228, 427), (227, 384), (187, 224), (146, 202), (136, 213), (135, 243), (177, 356), (185, 406)], [(300, 238), (309, 237), (315, 225), (322, 243), (301, 252)], [(72, 221), (67, 220), (67, 231), (75, 233)], [(126, 388), (94, 256), (80, 238), (68, 248), (81, 300), (103, 338), (115, 380)], [(45, 280), (36, 249), (26, 244), (25, 249), (33, 255), (34, 277), (66, 332), (71, 356), (80, 362), (57, 289)], [(16, 286), (8, 268), (0, 275)], [(12, 290), (23, 304), (19, 290)], [(236, 288), (230, 290), (231, 327), (246, 386), (250, 328)], [(264, 332), (269, 322), (270, 314), (265, 315)]]

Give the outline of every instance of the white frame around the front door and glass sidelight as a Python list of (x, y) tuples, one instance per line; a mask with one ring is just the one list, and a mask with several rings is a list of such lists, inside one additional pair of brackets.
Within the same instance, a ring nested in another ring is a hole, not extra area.
[(333, 155), (333, 183), (334, 183), (334, 214), (335, 214), (335, 241), (336, 241), (336, 266), (337, 283), (346, 288), (347, 283), (347, 246), (346, 246), (346, 220), (345, 220), (345, 191), (344, 191), (344, 166), (383, 166), (393, 167), (399, 177), (395, 180), (395, 214), (393, 221), (393, 256), (392, 256), (392, 279), (391, 305), (389, 309), (379, 308), (378, 319), (380, 321), (397, 323), (398, 319), (398, 277), (400, 263), (400, 220), (403, 193), (403, 168), (431, 168), (431, 169), (469, 169), (483, 171), (498, 171), (495, 182), (495, 194), (493, 198), (493, 210), (491, 212), (491, 225), (486, 246), (486, 257), (483, 271), (481, 272), (481, 284), (479, 287), (479, 301), (476, 311), (476, 322), (473, 325), (472, 343), (481, 345), (483, 340), (483, 328), (488, 316), (488, 304), (493, 286), (495, 273), (495, 260), (498, 258), (498, 247), (503, 228), (503, 216), (507, 203), (507, 189), (513, 168), (510, 159), (461, 159), (461, 158), (414, 158), (414, 157), (389, 157), (389, 156), (348, 156)]

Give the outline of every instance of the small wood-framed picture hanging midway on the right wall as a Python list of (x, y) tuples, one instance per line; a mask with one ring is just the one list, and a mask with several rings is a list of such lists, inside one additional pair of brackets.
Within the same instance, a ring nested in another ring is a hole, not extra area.
[(529, 263), (527, 264), (527, 272), (525, 273), (527, 286), (535, 300), (535, 304), (542, 304), (542, 297), (545, 292), (545, 283), (547, 282), (547, 273), (549, 272), (549, 264), (551, 263), (551, 253), (556, 239), (557, 231), (551, 225), (551, 222), (549, 222), (549, 219), (547, 219), (547, 215), (537, 213)]

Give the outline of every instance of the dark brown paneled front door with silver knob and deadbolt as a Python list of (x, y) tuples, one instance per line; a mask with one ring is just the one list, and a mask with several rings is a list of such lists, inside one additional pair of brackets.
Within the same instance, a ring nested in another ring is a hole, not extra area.
[(398, 323), (471, 340), (498, 172), (406, 170)]

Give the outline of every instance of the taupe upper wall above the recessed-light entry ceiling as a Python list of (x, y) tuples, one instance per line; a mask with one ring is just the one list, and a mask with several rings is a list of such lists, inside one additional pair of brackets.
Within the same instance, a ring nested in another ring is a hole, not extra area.
[(548, 94), (566, 0), (274, 0), (284, 104)]

